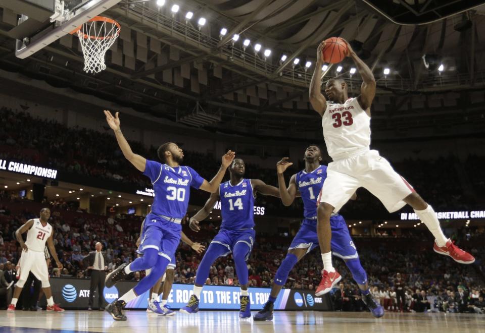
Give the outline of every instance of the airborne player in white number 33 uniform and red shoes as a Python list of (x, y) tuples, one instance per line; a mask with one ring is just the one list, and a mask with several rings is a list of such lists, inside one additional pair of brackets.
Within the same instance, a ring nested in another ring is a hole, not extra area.
[[(391, 164), (371, 150), (370, 106), (375, 95), (376, 83), (370, 68), (347, 44), (347, 57), (351, 58), (364, 81), (361, 94), (349, 98), (347, 83), (340, 78), (330, 79), (321, 93), (322, 42), (317, 49), (317, 63), (310, 83), (310, 102), (322, 117), (323, 137), (333, 162), (328, 164), (327, 179), (318, 196), (317, 233), (323, 260), (323, 274), (316, 295), (328, 293), (340, 274), (332, 266), (330, 240), (330, 217), (349, 200), (359, 187), (375, 195), (389, 212), (401, 209), (406, 204), (423, 221), (435, 238), (434, 251), (448, 255), (455, 261), (470, 264), (472, 255), (461, 250), (446, 238), (433, 208), (428, 205), (398, 173)], [(328, 100), (327, 100), (328, 99)]]

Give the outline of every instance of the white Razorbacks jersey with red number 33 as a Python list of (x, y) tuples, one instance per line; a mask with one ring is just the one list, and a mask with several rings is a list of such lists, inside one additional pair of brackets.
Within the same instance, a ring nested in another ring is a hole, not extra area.
[(322, 129), (328, 155), (333, 160), (369, 150), (370, 117), (357, 98), (349, 98), (344, 104), (327, 101)]

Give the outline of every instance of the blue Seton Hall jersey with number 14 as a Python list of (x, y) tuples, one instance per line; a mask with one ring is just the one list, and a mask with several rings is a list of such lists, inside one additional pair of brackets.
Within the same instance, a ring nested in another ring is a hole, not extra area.
[(250, 179), (243, 179), (232, 186), (230, 181), (219, 186), (221, 198), (221, 229), (241, 230), (254, 227), (253, 186)]

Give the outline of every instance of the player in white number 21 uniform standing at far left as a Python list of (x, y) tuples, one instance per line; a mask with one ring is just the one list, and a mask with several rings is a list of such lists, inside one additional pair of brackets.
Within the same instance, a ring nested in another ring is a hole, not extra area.
[[(7, 311), (15, 311), (15, 306), (19, 299), (22, 288), (24, 288), (25, 281), (29, 276), (29, 272), (35, 275), (42, 283), (42, 289), (47, 299), (47, 311), (63, 312), (64, 309), (54, 304), (52, 298), (51, 284), (49, 283), (49, 271), (47, 270), (47, 262), (45, 261), (45, 242), (49, 246), (49, 250), (56, 261), (57, 267), (62, 269), (62, 263), (57, 257), (56, 248), (54, 247), (53, 236), (54, 229), (47, 222), (51, 217), (51, 210), (49, 208), (42, 208), (40, 210), (39, 218), (29, 219), (22, 227), (15, 232), (15, 237), (22, 248), (22, 256), (20, 257), (20, 279), (16, 284), (12, 303)], [(23, 241), (22, 234), (27, 232), (27, 240)]]

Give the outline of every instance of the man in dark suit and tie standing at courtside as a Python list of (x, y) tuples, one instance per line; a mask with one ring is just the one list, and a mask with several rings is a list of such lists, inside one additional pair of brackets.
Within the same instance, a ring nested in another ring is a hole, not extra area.
[(103, 245), (98, 242), (95, 245), (96, 251), (89, 252), (82, 261), (87, 265), (87, 275), (91, 275), (91, 286), (89, 287), (88, 310), (92, 310), (94, 291), (98, 288), (98, 310), (103, 311), (103, 289), (105, 288), (106, 270), (108, 269), (108, 257), (102, 252)]

